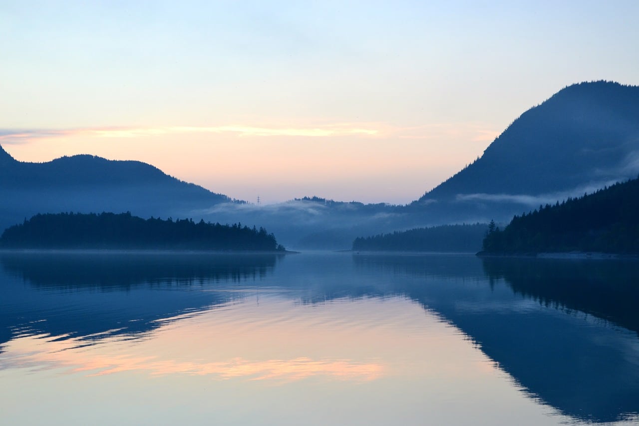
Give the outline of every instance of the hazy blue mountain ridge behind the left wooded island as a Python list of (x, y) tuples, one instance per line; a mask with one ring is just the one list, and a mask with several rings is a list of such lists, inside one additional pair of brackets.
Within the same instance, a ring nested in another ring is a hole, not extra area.
[(141, 217), (187, 217), (193, 210), (232, 201), (139, 161), (74, 155), (20, 162), (1, 146), (0, 200), (0, 229), (38, 213), (130, 211)]

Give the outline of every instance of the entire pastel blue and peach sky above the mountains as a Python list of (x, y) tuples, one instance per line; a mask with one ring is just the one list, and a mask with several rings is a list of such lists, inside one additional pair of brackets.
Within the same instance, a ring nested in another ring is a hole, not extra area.
[(0, 1), (0, 144), (232, 198), (407, 203), (564, 86), (639, 84), (632, 1)]

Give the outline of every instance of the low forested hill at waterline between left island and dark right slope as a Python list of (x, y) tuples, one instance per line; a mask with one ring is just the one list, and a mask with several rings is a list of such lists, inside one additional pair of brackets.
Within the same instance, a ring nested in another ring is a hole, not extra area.
[(475, 253), (481, 248), (488, 225), (443, 225), (415, 228), (403, 232), (359, 237), (353, 241), (355, 251), (440, 251)]

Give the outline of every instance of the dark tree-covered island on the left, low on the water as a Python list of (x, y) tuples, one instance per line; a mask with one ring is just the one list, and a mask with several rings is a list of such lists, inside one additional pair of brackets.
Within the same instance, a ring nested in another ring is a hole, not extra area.
[(130, 213), (37, 214), (4, 230), (3, 248), (284, 251), (264, 228), (190, 219), (142, 219)]

